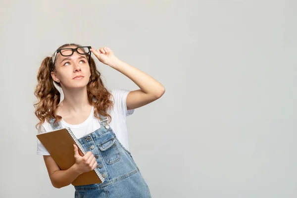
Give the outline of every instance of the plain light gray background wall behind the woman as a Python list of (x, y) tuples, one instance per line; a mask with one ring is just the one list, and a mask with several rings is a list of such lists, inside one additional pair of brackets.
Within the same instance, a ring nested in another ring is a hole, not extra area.
[[(127, 117), (153, 198), (296, 198), (297, 2), (1, 0), (0, 197), (71, 198), (36, 154), (41, 61), (107, 46), (166, 88)], [(99, 63), (110, 89), (135, 90)]]

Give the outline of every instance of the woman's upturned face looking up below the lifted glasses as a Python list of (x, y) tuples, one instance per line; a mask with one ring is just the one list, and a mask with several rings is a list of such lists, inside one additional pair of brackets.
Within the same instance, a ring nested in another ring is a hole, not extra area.
[[(65, 48), (76, 48), (76, 46)], [(85, 87), (91, 76), (88, 55), (82, 55), (76, 51), (71, 56), (62, 56), (57, 53), (55, 71), (51, 72), (51, 76), (65, 88)]]

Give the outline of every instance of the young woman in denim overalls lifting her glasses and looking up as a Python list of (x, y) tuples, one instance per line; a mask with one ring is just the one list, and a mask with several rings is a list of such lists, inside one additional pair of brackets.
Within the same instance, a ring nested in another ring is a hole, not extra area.
[[(130, 78), (135, 91), (108, 91), (91, 52), (100, 62)], [(86, 150), (74, 145), (75, 164), (60, 170), (47, 149), (37, 140), (37, 154), (44, 156), (55, 188), (71, 184), (80, 174), (97, 168), (100, 184), (75, 186), (76, 198), (150, 198), (148, 185), (129, 151), (126, 116), (134, 109), (159, 99), (165, 88), (139, 69), (118, 59), (107, 47), (65, 44), (46, 57), (39, 68), (34, 104), (40, 120), (38, 133), (69, 127)], [(60, 102), (59, 86), (64, 94)]]

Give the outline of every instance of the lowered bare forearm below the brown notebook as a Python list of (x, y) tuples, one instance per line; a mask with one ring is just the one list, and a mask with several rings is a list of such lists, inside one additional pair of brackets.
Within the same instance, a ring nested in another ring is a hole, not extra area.
[(52, 173), (51, 183), (55, 188), (62, 188), (71, 184), (81, 173), (75, 164), (67, 170), (57, 170)]

